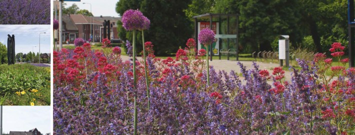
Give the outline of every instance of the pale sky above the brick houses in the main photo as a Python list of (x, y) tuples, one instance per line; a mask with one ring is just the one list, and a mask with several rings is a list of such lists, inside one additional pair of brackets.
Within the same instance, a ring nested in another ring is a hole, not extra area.
[(65, 7), (69, 7), (75, 3), (80, 9), (87, 9), (88, 11), (90, 11), (90, 4), (83, 3), (91, 3), (91, 12), (94, 16), (102, 15), (118, 17), (118, 13), (115, 10), (117, 1), (119, 0), (81, 0), (80, 2), (64, 2), (66, 3)]

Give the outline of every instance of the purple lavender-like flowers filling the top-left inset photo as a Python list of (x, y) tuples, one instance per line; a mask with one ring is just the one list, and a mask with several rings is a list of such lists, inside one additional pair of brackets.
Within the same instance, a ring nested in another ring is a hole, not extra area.
[(50, 24), (50, 0), (0, 0), (0, 24)]

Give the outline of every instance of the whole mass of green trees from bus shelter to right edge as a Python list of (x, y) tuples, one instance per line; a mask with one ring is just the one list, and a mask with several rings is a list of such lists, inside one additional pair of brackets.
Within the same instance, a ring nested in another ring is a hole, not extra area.
[(293, 48), (317, 52), (327, 52), (335, 41), (347, 44), (347, 0), (214, 1), (213, 12), (240, 15), (239, 43), (250, 52), (275, 50), (280, 34), (290, 35)]

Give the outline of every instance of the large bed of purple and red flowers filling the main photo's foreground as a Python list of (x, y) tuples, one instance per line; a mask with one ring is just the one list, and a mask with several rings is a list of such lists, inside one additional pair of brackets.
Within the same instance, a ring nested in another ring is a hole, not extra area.
[[(238, 62), (243, 80), (235, 71), (209, 67), (207, 85), (205, 61), (192, 42), (166, 59), (155, 58), (146, 42), (148, 80), (143, 61), (134, 61), (133, 73), (133, 61), (122, 61), (108, 44), (96, 51), (88, 43), (54, 51), (54, 131), (133, 134), (136, 108), (137, 134), (355, 133), (355, 68), (331, 67), (330, 59), (317, 54), (314, 61), (298, 59), (301, 69), (293, 68), (291, 81), (285, 81), (280, 67), (269, 73), (256, 63), (246, 70)], [(336, 57), (340, 46), (330, 50)], [(329, 68), (332, 75), (325, 76)]]

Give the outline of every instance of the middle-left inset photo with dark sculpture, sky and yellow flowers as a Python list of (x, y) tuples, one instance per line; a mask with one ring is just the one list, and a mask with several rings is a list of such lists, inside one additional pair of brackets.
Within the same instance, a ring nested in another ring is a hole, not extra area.
[(50, 25), (0, 25), (0, 105), (50, 105)]

